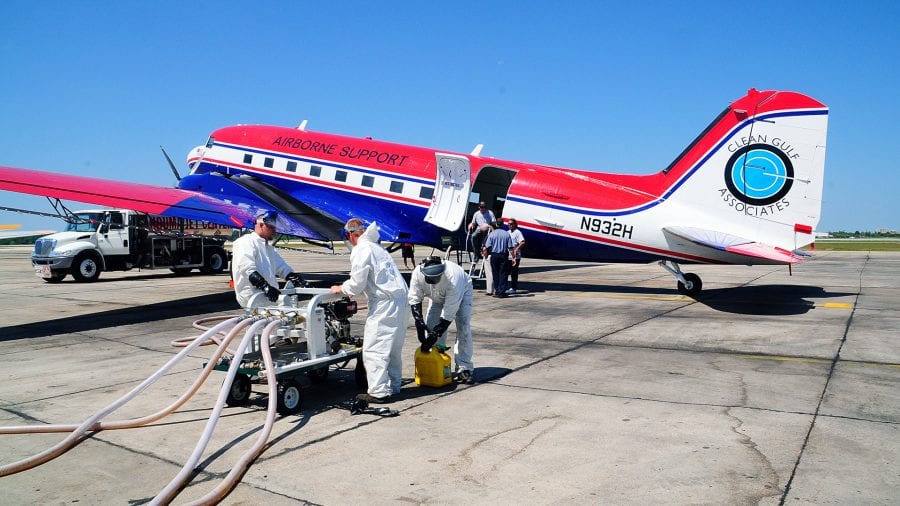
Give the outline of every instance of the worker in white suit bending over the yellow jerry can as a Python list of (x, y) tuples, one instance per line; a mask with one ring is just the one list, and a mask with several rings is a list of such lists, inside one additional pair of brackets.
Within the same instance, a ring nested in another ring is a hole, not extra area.
[[(416, 323), (416, 332), (422, 342), (422, 351), (428, 351), (435, 343), (444, 346), (447, 329), (456, 322), (456, 344), (453, 346), (453, 363), (456, 380), (475, 383), (475, 366), (472, 364), (472, 279), (459, 265), (441, 260), (441, 257), (425, 258), (412, 273), (409, 282), (409, 305)], [(431, 305), (428, 314), (422, 316), (422, 301), (428, 297)]]

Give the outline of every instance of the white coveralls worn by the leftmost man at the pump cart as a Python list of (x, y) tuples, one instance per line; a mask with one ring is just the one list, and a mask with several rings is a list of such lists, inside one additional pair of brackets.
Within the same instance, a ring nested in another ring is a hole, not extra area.
[(250, 283), (250, 274), (259, 273), (269, 286), (278, 288), (278, 277), (294, 272), (291, 266), (275, 251), (275, 247), (256, 232), (243, 235), (234, 241), (231, 253), (231, 277), (234, 279), (234, 295), (241, 307), (247, 307), (250, 297), (261, 292)]

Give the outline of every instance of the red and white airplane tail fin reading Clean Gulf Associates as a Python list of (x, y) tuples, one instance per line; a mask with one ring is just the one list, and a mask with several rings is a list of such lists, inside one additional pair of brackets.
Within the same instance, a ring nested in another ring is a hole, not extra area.
[(751, 89), (664, 171), (677, 181), (669, 226), (689, 219), (786, 252), (810, 244), (822, 211), (827, 127), (821, 102)]

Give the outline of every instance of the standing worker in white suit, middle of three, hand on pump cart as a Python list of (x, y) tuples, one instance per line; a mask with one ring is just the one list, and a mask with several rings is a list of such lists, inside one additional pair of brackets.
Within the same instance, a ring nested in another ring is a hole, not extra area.
[(409, 320), (406, 281), (394, 259), (378, 244), (378, 225), (365, 227), (362, 220), (350, 219), (344, 226), (352, 251), (350, 279), (331, 287), (331, 292), (368, 297), (369, 316), (363, 331), (363, 364), (368, 393), (358, 399), (390, 402), (400, 393), (403, 341)]

